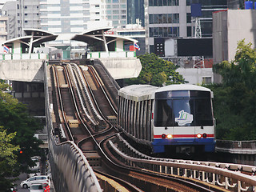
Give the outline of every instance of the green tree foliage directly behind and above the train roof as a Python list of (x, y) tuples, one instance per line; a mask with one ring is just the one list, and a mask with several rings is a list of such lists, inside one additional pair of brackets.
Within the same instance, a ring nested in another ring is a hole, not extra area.
[(126, 80), (127, 84), (163, 86), (185, 82), (182, 75), (175, 71), (178, 66), (175, 66), (172, 62), (158, 58), (156, 54), (144, 54), (138, 56), (138, 58), (142, 63), (142, 71), (138, 78), (130, 78)]

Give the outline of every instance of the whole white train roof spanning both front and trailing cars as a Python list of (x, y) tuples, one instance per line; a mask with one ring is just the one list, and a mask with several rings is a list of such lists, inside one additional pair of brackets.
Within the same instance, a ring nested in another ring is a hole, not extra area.
[[(118, 91), (118, 95), (123, 98), (139, 102), (147, 99), (154, 99), (154, 93), (170, 90), (202, 90), (210, 91), (210, 89), (203, 86), (194, 86), (190, 84), (175, 84), (170, 86), (150, 86), (150, 85), (132, 85), (122, 87)], [(212, 95), (213, 97), (213, 95)]]

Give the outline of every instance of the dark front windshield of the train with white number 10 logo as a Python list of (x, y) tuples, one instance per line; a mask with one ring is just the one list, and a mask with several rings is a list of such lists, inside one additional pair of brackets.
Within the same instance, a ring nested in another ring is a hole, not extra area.
[(189, 92), (182, 97), (178, 93), (156, 94), (154, 126), (213, 126), (210, 92)]

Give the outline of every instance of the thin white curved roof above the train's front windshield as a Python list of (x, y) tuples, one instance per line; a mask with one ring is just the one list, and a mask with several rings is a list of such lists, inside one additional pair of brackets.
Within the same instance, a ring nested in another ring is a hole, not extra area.
[(156, 90), (156, 92), (170, 91), (170, 90), (204, 90), (210, 91), (210, 89), (204, 86), (195, 86), (190, 84), (175, 84), (170, 86), (162, 86)]

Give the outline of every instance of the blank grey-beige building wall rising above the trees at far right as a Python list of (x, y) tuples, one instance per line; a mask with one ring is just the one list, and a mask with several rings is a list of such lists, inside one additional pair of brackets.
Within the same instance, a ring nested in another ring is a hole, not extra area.
[(234, 60), (238, 41), (255, 48), (256, 10), (226, 10), (213, 14), (214, 63)]

